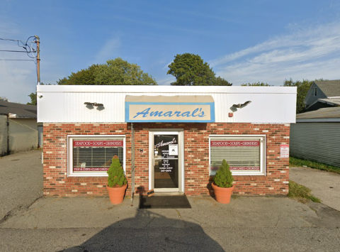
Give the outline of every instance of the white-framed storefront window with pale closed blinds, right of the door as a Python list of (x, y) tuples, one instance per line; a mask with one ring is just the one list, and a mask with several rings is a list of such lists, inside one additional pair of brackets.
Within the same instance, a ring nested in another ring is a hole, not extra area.
[(210, 136), (210, 175), (225, 159), (233, 175), (265, 175), (266, 136)]

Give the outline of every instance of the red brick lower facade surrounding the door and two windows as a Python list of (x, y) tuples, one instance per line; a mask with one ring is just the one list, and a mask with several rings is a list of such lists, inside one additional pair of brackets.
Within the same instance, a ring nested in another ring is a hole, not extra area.
[[(210, 135), (266, 135), (266, 176), (234, 176), (234, 194), (287, 195), (288, 158), (280, 144), (289, 144), (289, 124), (173, 124), (135, 125), (135, 189), (149, 187), (149, 128), (183, 128), (186, 195), (212, 194), (209, 176)], [(126, 175), (131, 185), (130, 124), (44, 124), (44, 195), (107, 195), (106, 177), (67, 177), (67, 135), (124, 135)], [(138, 150), (143, 149), (140, 153)], [(128, 187), (127, 195), (131, 195)]]

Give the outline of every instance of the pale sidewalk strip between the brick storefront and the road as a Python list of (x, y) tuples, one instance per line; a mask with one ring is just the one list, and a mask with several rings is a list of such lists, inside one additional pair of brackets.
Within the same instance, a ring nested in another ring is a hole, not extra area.
[[(183, 227), (199, 224), (202, 227), (311, 227), (316, 226), (317, 214), (309, 206), (284, 197), (240, 197), (230, 204), (220, 204), (211, 197), (188, 197), (191, 209), (138, 209), (139, 199), (113, 205), (108, 197), (78, 197), (39, 199), (27, 210), (18, 212), (1, 225), (8, 229), (66, 229), (106, 228), (118, 221), (125, 227), (140, 229), (146, 226)], [(154, 215), (162, 221), (140, 218)], [(340, 227), (340, 212), (322, 226)], [(168, 221), (167, 220), (171, 220)]]

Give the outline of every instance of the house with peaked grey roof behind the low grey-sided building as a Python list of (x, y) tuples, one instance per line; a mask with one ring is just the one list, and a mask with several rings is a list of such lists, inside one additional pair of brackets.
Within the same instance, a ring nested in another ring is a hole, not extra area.
[(340, 80), (314, 81), (304, 103), (306, 111), (340, 106)]

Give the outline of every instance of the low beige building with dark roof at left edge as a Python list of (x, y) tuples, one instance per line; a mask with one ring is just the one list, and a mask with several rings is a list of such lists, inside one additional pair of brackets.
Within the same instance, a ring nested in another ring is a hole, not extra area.
[(38, 131), (37, 106), (0, 102), (0, 156), (38, 148)]

